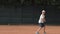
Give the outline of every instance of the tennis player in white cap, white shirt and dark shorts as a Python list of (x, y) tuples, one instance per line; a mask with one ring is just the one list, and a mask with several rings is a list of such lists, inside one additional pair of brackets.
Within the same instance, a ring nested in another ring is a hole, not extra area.
[(45, 10), (42, 10), (42, 14), (40, 15), (40, 18), (39, 18), (39, 21), (38, 21), (40, 27), (37, 29), (36, 34), (39, 34), (39, 31), (42, 28), (44, 28), (44, 34), (46, 34), (46, 32), (45, 32), (45, 22), (46, 22), (45, 13), (46, 13)]

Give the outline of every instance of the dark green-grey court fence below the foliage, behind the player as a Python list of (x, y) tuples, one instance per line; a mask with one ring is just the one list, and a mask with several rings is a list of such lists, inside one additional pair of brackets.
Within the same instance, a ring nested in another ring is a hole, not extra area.
[[(60, 10), (47, 6), (47, 24), (60, 25)], [(0, 24), (37, 24), (42, 6), (24, 6), (21, 8), (0, 8)]]

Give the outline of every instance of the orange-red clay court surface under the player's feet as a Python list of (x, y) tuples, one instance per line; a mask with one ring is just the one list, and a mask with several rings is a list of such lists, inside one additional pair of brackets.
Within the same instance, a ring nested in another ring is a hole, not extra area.
[[(35, 34), (37, 28), (37, 25), (0, 25), (0, 34)], [(60, 26), (46, 26), (46, 33), (60, 34)]]

